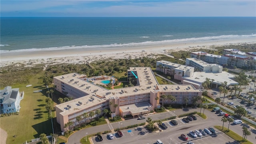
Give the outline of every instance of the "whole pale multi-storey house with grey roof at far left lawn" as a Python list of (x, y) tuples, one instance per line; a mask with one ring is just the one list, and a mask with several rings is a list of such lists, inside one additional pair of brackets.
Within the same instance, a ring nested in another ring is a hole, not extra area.
[(20, 100), (22, 100), (24, 92), (20, 93), (19, 88), (6, 86), (0, 90), (1, 114), (8, 114), (20, 111)]

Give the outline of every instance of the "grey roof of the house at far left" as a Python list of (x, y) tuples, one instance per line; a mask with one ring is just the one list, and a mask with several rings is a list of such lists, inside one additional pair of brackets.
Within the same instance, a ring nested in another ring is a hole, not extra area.
[(1, 99), (4, 98), (2, 104), (10, 104), (16, 101), (18, 96), (19, 88), (12, 88), (11, 86), (6, 86), (3, 90), (0, 90)]

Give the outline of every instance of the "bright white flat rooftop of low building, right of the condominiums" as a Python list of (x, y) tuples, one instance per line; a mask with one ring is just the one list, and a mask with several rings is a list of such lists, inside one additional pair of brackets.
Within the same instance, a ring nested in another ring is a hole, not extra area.
[(231, 78), (234, 78), (234, 75), (222, 71), (221, 73), (211, 73), (211, 72), (194, 72), (193, 77), (184, 77), (185, 80), (188, 81), (195, 81), (195, 82), (204, 82), (206, 78), (214, 79), (213, 83), (221, 84), (222, 82), (226, 81), (228, 82), (228, 86), (238, 84), (238, 82), (232, 80)]

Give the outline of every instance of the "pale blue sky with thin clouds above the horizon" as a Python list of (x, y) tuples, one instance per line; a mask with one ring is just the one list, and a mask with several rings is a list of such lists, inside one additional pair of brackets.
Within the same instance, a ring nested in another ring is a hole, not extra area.
[(256, 0), (0, 0), (1, 17), (256, 16)]

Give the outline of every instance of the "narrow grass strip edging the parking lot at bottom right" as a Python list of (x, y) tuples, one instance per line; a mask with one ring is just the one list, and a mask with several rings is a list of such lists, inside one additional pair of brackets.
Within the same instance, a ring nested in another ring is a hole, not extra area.
[[(238, 141), (240, 144), (253, 144), (252, 142), (246, 140), (246, 142), (242, 142), (242, 136), (236, 134), (235, 132), (233, 132), (232, 130), (228, 128), (224, 127), (222, 130), (222, 126), (214, 126), (214, 128), (217, 128), (218, 130), (221, 130), (222, 132), (224, 132), (226, 135), (230, 136), (230, 138), (233, 138), (234, 140)], [(241, 129), (242, 131), (242, 129)]]

